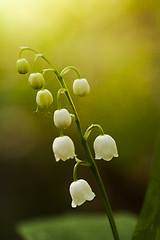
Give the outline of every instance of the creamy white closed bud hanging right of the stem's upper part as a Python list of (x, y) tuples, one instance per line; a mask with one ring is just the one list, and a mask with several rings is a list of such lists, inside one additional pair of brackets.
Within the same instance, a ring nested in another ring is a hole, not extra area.
[(87, 96), (90, 93), (90, 86), (87, 80), (85, 78), (74, 80), (73, 92), (80, 97)]

